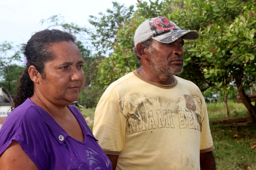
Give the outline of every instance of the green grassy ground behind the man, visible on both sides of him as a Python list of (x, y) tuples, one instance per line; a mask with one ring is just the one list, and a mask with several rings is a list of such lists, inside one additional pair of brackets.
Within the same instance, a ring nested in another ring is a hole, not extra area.
[[(224, 103), (209, 103), (207, 110), (214, 140), (216, 169), (256, 170), (256, 125), (241, 103), (228, 102), (229, 118)], [(95, 108), (79, 109), (92, 130)]]

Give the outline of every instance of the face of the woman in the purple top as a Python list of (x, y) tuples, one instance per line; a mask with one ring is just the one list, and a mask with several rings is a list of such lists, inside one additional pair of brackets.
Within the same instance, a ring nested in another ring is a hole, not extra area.
[(67, 106), (76, 101), (84, 83), (83, 60), (72, 41), (53, 43), (50, 47), (54, 60), (45, 64), (44, 76), (38, 90), (44, 99), (56, 106)]

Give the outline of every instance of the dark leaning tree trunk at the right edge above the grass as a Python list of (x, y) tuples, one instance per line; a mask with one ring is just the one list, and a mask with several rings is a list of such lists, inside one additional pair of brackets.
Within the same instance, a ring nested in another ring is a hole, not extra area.
[(251, 104), (249, 97), (245, 94), (244, 88), (242, 86), (242, 76), (238, 76), (236, 80), (236, 84), (238, 87), (238, 94), (242, 100), (242, 103), (245, 105), (246, 109), (249, 111), (252, 122), (256, 123), (256, 102), (254, 106)]

